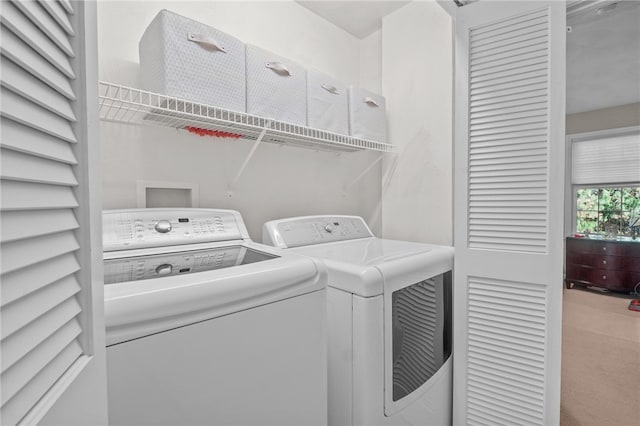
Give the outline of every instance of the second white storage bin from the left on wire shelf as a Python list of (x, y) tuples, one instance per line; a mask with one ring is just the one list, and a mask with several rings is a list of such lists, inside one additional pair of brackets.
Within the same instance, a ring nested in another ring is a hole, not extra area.
[(307, 124), (306, 71), (289, 59), (247, 45), (247, 112)]

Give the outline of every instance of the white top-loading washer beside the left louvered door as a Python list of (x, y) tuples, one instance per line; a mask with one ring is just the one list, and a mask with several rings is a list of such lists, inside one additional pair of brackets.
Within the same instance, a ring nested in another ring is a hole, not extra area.
[(327, 423), (325, 267), (239, 213), (103, 214), (109, 423)]

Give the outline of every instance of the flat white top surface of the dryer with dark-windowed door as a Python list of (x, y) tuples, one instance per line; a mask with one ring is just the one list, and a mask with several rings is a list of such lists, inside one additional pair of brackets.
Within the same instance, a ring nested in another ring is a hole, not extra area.
[(419, 282), (453, 267), (453, 248), (409, 241), (364, 238), (290, 249), (327, 265), (329, 286), (373, 297), (384, 283)]

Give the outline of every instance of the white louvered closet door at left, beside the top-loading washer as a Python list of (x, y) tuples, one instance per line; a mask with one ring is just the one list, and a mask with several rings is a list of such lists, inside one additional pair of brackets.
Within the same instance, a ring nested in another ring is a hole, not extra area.
[[(92, 329), (101, 307), (93, 312), (88, 73), (77, 54), (85, 12), (68, 1), (0, 4), (2, 425), (46, 418), (104, 353)], [(92, 383), (101, 395), (104, 381)]]

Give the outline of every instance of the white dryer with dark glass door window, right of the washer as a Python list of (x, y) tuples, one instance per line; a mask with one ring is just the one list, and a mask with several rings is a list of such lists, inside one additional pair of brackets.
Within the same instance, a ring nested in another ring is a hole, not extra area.
[(263, 242), (328, 267), (330, 425), (451, 424), (452, 247), (356, 216), (275, 220)]

